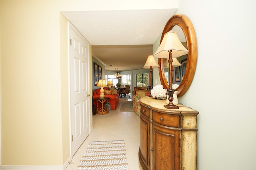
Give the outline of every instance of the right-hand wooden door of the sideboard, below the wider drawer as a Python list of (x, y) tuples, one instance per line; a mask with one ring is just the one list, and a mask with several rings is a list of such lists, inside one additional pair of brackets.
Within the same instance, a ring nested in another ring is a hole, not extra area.
[(153, 124), (153, 169), (180, 169), (180, 131)]

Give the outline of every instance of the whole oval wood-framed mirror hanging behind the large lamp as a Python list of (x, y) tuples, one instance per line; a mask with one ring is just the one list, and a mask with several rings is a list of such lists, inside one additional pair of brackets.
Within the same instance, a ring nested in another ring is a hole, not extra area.
[[(182, 65), (174, 68), (174, 83), (180, 84), (175, 90), (178, 91), (177, 96), (180, 97), (188, 90), (194, 78), (197, 60), (196, 33), (191, 21), (184, 14), (176, 14), (167, 21), (160, 43), (164, 34), (170, 30), (177, 33), (184, 47), (188, 49), (188, 55), (178, 57), (178, 61)], [(165, 62), (166, 60), (164, 59), (158, 59), (158, 64), (160, 65), (158, 70), (161, 84), (164, 88), (168, 89), (168, 78), (166, 79), (166, 77), (168, 77), (169, 72), (168, 68), (164, 68)]]

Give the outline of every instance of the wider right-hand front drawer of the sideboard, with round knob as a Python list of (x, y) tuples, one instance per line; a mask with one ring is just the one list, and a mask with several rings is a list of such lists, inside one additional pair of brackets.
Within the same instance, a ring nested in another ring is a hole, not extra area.
[(154, 122), (160, 125), (168, 127), (180, 127), (180, 115), (171, 115), (152, 111), (152, 119)]

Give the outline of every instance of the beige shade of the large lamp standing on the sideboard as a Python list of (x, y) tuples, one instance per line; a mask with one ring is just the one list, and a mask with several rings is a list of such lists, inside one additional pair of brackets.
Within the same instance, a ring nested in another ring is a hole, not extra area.
[(154, 57), (169, 59), (169, 50), (172, 50), (172, 59), (188, 54), (188, 50), (182, 45), (176, 32), (173, 31), (164, 34)]

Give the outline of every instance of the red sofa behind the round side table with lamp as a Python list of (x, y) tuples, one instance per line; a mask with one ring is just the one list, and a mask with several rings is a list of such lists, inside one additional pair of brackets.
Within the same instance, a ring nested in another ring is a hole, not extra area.
[[(104, 90), (112, 90), (112, 94), (105, 94), (105, 97), (110, 97), (109, 102), (110, 102), (110, 109), (111, 110), (115, 110), (116, 107), (118, 106), (118, 102), (119, 102), (119, 94), (118, 92), (116, 92), (115, 89), (109, 89), (109, 88), (104, 88)], [(100, 97), (100, 88), (94, 90), (93, 92), (93, 104), (95, 106), (96, 105), (96, 101), (94, 100), (95, 98), (99, 98)]]

